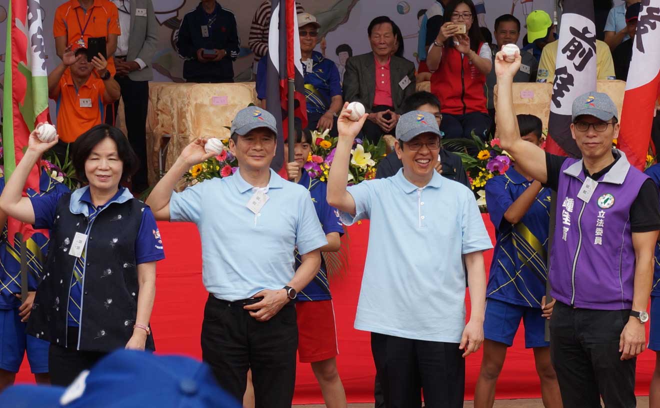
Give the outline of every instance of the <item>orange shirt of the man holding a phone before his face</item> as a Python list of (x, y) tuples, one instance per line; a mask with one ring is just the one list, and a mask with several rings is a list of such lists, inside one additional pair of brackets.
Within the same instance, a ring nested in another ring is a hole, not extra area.
[(59, 80), (51, 98), (57, 102), (57, 134), (66, 143), (75, 142), (82, 133), (104, 123), (106, 85), (95, 75), (90, 75), (87, 82), (76, 89), (67, 69)]

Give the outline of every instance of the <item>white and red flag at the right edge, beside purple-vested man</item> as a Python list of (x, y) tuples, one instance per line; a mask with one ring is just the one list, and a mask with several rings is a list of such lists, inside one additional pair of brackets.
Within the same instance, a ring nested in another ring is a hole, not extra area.
[[(642, 0), (632, 46), (617, 146), (644, 170), (653, 110), (660, 95), (660, 0)], [(655, 146), (657, 152), (658, 146)]]

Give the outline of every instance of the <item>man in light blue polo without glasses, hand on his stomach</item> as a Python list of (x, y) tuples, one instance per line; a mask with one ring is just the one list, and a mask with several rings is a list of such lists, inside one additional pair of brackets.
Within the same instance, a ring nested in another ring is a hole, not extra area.
[[(240, 170), (173, 193), (183, 174), (214, 155), (203, 139), (185, 149), (147, 203), (156, 219), (195, 222), (209, 291), (202, 358), (239, 401), (252, 370), (255, 406), (290, 408), (298, 327), (291, 300), (314, 279), (327, 244), (309, 191), (270, 169), (275, 118), (250, 106), (232, 121), (229, 149)], [(294, 250), (302, 263), (294, 271)]]

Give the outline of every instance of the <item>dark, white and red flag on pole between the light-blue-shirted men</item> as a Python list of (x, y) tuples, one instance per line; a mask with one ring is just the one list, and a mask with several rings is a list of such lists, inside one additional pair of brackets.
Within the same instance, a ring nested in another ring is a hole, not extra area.
[[(304, 95), (304, 74), (298, 19), (294, 0), (272, 0), (271, 25), (268, 36), (266, 110), (277, 121), (277, 152), (271, 168), (286, 171), (284, 164), (284, 134), (288, 134), (288, 79), (295, 80), (294, 116), (307, 127), (307, 108)], [(291, 123), (293, 125), (293, 123)]]

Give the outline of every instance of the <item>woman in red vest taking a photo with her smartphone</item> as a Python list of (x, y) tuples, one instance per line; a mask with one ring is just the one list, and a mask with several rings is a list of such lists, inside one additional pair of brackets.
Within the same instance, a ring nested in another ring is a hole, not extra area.
[(484, 94), (492, 51), (482, 39), (476, 15), (471, 0), (451, 1), (426, 57), (433, 73), (431, 92), (442, 104), (440, 130), (447, 139), (471, 139), (473, 132), (486, 139), (492, 123)]

